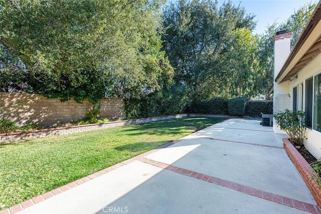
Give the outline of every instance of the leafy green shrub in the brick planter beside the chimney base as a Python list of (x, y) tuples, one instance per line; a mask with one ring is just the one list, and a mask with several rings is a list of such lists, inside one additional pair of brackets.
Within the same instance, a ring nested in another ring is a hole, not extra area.
[(273, 117), (281, 130), (285, 131), (293, 145), (303, 144), (306, 130), (305, 112), (285, 109), (273, 114)]

